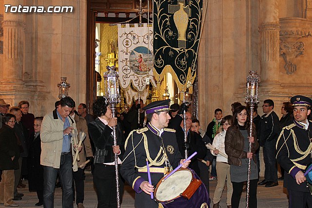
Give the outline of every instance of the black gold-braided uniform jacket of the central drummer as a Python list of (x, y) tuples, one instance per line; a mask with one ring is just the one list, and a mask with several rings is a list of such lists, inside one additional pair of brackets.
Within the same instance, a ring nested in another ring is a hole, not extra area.
[(182, 157), (176, 143), (175, 130), (164, 128), (160, 134), (153, 125), (148, 124), (147, 127), (133, 130), (129, 134), (125, 148), (120, 173), (136, 191), (136, 208), (157, 207), (156, 202), (151, 200), (150, 195), (142, 192), (139, 186), (143, 181), (148, 181), (146, 158), (154, 187), (164, 176), (165, 167), (172, 170), (179, 165)]

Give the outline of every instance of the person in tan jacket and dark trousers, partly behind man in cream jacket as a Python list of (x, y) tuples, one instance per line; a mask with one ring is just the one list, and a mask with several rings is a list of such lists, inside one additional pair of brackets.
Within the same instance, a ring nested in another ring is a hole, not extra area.
[[(75, 113), (75, 107), (73, 108), (70, 117), (75, 120), (76, 128), (77, 128), (77, 144), (80, 140), (79, 135), (80, 132), (84, 132), (86, 134), (86, 138), (82, 142), (82, 149), (79, 152), (79, 161), (78, 164), (78, 171), (73, 172), (73, 177), (75, 181), (75, 186), (73, 186), (73, 194), (75, 196), (75, 187), (76, 187), (76, 204), (78, 208), (84, 208), (83, 200), (84, 200), (84, 166), (86, 165), (86, 157), (89, 160), (93, 161), (93, 152), (90, 144), (89, 133), (88, 133), (88, 126), (86, 120), (82, 116), (78, 116)], [(75, 139), (75, 138), (74, 138)], [(74, 152), (73, 152), (74, 154)]]

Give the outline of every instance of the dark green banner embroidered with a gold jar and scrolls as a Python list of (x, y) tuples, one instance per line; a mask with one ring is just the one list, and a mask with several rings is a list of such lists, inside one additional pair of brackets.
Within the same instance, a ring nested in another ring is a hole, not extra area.
[(171, 73), (192, 92), (196, 76), (203, 0), (154, 0), (154, 76)]

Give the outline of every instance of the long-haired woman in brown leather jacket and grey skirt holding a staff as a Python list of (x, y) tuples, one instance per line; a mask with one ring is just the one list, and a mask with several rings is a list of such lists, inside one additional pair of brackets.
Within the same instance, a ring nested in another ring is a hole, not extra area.
[[(257, 182), (258, 169), (254, 152), (259, 148), (256, 140), (256, 132), (253, 127), (250, 137), (250, 114), (246, 106), (239, 106), (233, 112), (233, 125), (230, 126), (225, 135), (225, 152), (231, 165), (230, 174), (233, 184), (232, 208), (239, 207), (239, 200), (243, 190), (244, 182), (248, 180), (248, 160), (251, 160), (249, 207), (257, 207)], [(252, 151), (249, 152), (249, 143), (252, 143)]]

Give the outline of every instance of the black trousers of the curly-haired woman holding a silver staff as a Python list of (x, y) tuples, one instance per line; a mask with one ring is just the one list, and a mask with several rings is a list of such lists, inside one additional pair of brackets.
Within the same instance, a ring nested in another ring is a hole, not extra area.
[[(120, 168), (120, 165), (118, 167)], [(93, 171), (93, 183), (98, 194), (98, 208), (117, 208), (115, 166), (96, 163)], [(119, 173), (120, 204), (123, 195), (123, 187), (124, 180)]]

